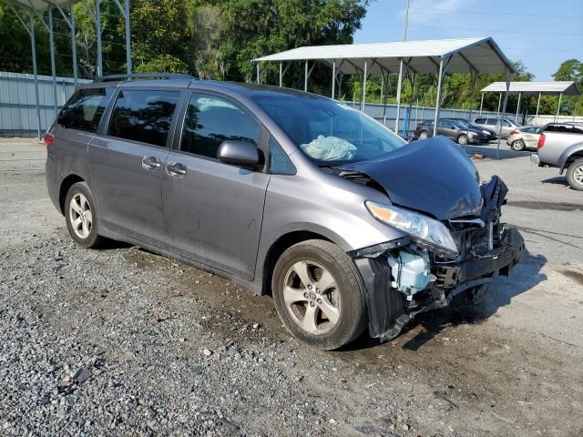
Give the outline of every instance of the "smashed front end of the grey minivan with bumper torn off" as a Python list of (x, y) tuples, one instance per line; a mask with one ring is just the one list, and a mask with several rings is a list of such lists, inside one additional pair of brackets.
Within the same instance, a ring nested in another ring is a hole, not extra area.
[(455, 249), (447, 249), (448, 241), (404, 237), (351, 253), (366, 289), (372, 337), (394, 339), (416, 314), (444, 308), (456, 294), (483, 287), (498, 274), (508, 276), (521, 259), (524, 240), (500, 222), (506, 185), (494, 177), (480, 192), (481, 208), (473, 215), (431, 220), (445, 226)]

